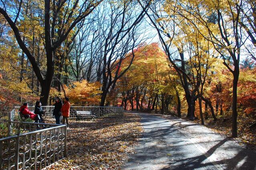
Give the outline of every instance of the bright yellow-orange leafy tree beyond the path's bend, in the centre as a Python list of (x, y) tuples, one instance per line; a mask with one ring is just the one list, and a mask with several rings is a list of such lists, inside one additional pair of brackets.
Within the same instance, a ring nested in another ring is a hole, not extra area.
[[(129, 54), (128, 54), (129, 55)], [(121, 70), (129, 66), (131, 58), (123, 60)], [(134, 50), (133, 64), (118, 80), (117, 89), (122, 94), (121, 100), (127, 109), (127, 100), (131, 109), (136, 104), (136, 110), (151, 110), (161, 108), (161, 113), (169, 113), (169, 104), (174, 99), (178, 115), (181, 116), (179, 95), (180, 84), (175, 70), (170, 68), (165, 52), (159, 44), (143, 44)], [(176, 100), (177, 97), (177, 100)], [(147, 104), (147, 108), (144, 106)]]

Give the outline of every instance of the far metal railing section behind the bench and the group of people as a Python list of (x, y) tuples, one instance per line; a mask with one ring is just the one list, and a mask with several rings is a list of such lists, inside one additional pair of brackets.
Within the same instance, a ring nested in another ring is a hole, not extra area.
[[(54, 119), (54, 106), (41, 106), (45, 111), (46, 119)], [(15, 115), (18, 115), (20, 107), (15, 107), (14, 112), (10, 114), (11, 121), (14, 121)], [(34, 111), (34, 106), (29, 106), (30, 111)], [(91, 111), (96, 117), (123, 117), (122, 107), (100, 107), (100, 106), (71, 106), (70, 118), (77, 118), (77, 111)]]

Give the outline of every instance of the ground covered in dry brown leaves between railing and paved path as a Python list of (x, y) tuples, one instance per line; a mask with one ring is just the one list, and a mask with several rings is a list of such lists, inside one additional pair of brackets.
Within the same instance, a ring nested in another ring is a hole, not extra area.
[(121, 169), (127, 153), (135, 153), (133, 146), (142, 132), (139, 120), (139, 116), (125, 113), (124, 118), (71, 122), (68, 156), (48, 169)]

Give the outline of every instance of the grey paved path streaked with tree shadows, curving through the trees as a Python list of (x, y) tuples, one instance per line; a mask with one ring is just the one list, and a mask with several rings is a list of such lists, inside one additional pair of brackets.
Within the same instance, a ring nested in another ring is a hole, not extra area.
[(205, 126), (139, 115), (144, 133), (125, 170), (256, 170), (256, 152)]

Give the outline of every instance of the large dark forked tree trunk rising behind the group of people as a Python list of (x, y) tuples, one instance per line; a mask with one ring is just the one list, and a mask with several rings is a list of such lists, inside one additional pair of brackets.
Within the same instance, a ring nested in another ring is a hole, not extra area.
[[(48, 102), (50, 86), (54, 75), (54, 56), (56, 54), (56, 49), (60, 47), (71, 30), (73, 30), (81, 20), (86, 18), (101, 2), (102, 0), (86, 0), (84, 2), (79, 2), (79, 0), (61, 0), (52, 2), (50, 0), (45, 0), (44, 4), (41, 4), (40, 1), (34, 3), (39, 7), (40, 13), (44, 13), (44, 16), (38, 15), (38, 17), (42, 17), (40, 18), (40, 21), (44, 22), (44, 46), (47, 62), (46, 74), (43, 75), (35, 56), (22, 40), (20, 28), (18, 26), (20, 14), (22, 13), (22, 9), (24, 9), (21, 7), (30, 5), (30, 2), (21, 0), (18, 2), (18, 9), (15, 9), (16, 5), (12, 6), (6, 3), (6, 1), (1, 1), (0, 13), (12, 28), (20, 48), (28, 57), (35, 75), (40, 82), (42, 88), (40, 100), (43, 105), (46, 105)], [(40, 8), (43, 5), (44, 8)], [(17, 11), (16, 14), (11, 12), (13, 8)], [(58, 31), (56, 32), (56, 30)]]

